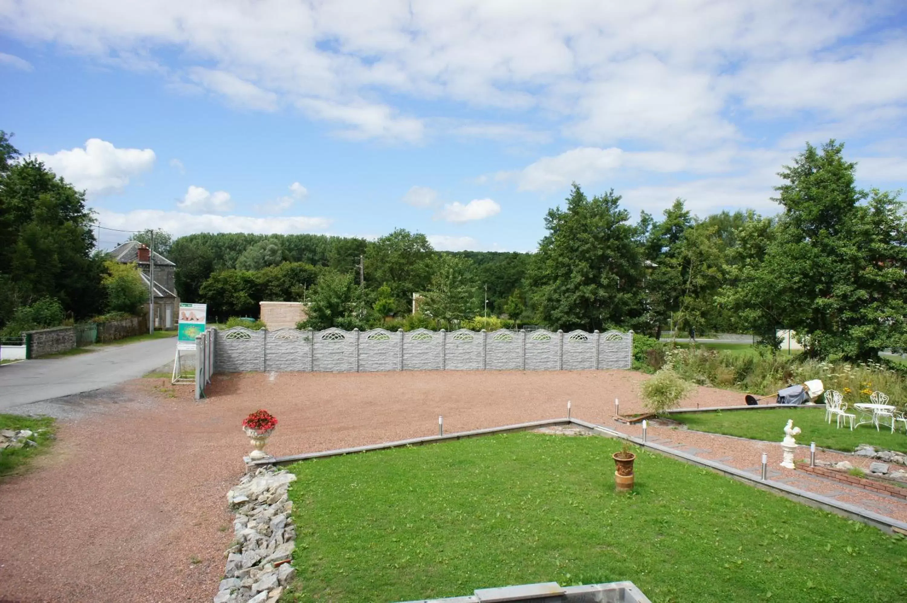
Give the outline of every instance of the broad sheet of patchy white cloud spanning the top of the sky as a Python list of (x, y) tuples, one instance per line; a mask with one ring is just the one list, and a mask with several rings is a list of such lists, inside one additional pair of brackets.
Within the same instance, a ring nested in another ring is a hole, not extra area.
[[(746, 141), (746, 126), (770, 131), (762, 121), (782, 115), (808, 121), (796, 112), (851, 121), (902, 106), (897, 4), (45, 0), (0, 3), (0, 30), (239, 107), (295, 106), (352, 139), (560, 131), (571, 144), (687, 151)], [(483, 123), (492, 112), (500, 123)]]

